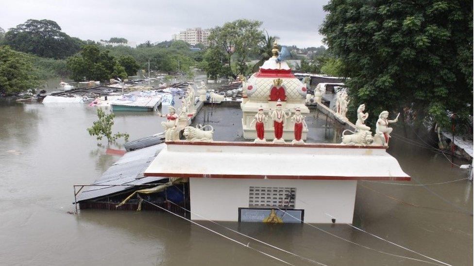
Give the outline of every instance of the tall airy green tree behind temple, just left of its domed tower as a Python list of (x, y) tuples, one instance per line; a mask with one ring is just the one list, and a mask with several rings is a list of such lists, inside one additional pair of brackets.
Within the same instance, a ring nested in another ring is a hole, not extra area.
[(263, 32), (259, 30), (261, 25), (261, 21), (237, 19), (211, 30), (208, 37), (210, 47), (225, 52), (223, 63), (231, 65), (231, 60), (233, 61), (236, 65), (235, 77), (246, 74), (248, 56), (258, 50), (258, 44), (262, 40)]

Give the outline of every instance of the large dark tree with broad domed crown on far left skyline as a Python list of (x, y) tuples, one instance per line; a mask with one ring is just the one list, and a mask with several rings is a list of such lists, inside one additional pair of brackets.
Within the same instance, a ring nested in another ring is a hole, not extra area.
[(5, 33), (5, 45), (41, 57), (66, 58), (79, 51), (82, 41), (71, 38), (59, 25), (48, 19), (29, 19)]

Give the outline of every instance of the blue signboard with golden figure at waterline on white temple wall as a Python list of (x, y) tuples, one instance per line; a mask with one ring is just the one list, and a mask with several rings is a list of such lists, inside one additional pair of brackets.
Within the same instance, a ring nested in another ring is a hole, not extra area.
[(302, 223), (305, 210), (274, 208), (238, 208), (239, 222)]

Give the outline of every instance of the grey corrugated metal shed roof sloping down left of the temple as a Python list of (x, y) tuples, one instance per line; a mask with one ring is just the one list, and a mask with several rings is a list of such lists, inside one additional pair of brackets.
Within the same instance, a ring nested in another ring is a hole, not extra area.
[[(145, 177), (143, 172), (150, 166), (156, 155), (165, 147), (158, 144), (147, 148), (126, 153), (115, 162), (101, 177), (92, 185), (141, 185), (156, 182), (168, 177)], [(78, 195), (77, 201), (85, 201), (93, 198), (106, 196), (123, 190), (130, 189), (129, 186), (104, 186), (85, 187)]]

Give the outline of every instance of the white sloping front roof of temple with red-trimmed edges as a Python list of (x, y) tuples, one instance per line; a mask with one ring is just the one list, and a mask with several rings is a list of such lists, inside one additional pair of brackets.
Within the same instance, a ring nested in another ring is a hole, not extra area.
[[(192, 163), (190, 163), (192, 162)], [(410, 177), (382, 146), (167, 142), (145, 176), (403, 180)]]

